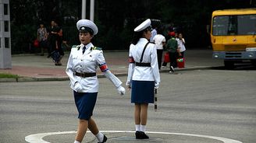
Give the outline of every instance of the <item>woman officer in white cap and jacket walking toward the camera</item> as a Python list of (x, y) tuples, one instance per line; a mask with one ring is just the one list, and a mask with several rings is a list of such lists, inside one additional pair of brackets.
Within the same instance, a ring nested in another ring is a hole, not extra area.
[(72, 48), (66, 67), (80, 119), (74, 143), (80, 143), (83, 140), (87, 128), (98, 138), (98, 142), (105, 142), (107, 138), (98, 131), (91, 117), (98, 95), (97, 68), (99, 67), (106, 78), (116, 86), (119, 94), (125, 94), (125, 89), (119, 78), (109, 71), (103, 51), (91, 44), (91, 39), (98, 33), (98, 27), (87, 19), (80, 19), (76, 27), (80, 31), (81, 44)]

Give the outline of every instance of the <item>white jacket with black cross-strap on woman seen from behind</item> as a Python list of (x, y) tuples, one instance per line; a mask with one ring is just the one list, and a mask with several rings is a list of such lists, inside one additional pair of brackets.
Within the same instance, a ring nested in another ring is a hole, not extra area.
[(127, 82), (131, 80), (137, 81), (155, 81), (160, 82), (160, 74), (158, 70), (158, 59), (155, 44), (148, 44), (144, 51), (142, 63), (151, 63), (151, 67), (135, 66), (135, 62), (140, 62), (141, 54), (144, 46), (148, 43), (145, 38), (140, 38), (136, 45), (130, 44), (129, 52), (129, 69)]

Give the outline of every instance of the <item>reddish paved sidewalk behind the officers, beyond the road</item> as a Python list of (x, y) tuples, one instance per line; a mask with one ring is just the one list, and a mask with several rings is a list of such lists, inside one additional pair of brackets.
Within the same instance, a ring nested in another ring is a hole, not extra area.
[[(105, 60), (110, 71), (117, 75), (127, 75), (128, 51), (105, 51)], [(31, 82), (69, 80), (66, 75), (66, 63), (69, 53), (62, 58), (62, 66), (55, 66), (51, 58), (35, 54), (12, 55), (12, 69), (0, 69), (0, 73), (20, 75), (22, 78), (0, 78), (0, 82)], [(212, 59), (212, 50), (187, 50), (185, 68), (176, 71), (195, 70), (223, 66), (222, 61)], [(168, 68), (160, 72), (169, 72)], [(98, 77), (104, 77), (98, 69)]]

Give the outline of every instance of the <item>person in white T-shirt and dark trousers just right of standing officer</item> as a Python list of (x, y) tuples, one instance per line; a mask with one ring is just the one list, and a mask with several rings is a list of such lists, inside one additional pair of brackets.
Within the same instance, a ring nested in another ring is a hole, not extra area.
[(158, 34), (153, 38), (153, 42), (155, 43), (155, 47), (157, 49), (158, 54), (158, 69), (161, 69), (162, 65), (162, 52), (163, 47), (165, 46), (165, 37), (162, 35), (162, 27), (158, 28)]

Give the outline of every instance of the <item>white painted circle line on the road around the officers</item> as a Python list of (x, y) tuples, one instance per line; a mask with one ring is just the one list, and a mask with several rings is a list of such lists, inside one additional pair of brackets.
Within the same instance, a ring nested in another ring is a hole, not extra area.
[[(87, 131), (91, 132), (91, 131)], [(134, 133), (135, 131), (101, 131), (102, 133)], [(185, 133), (170, 133), (170, 132), (158, 132), (158, 131), (147, 131), (149, 134), (172, 134), (172, 135), (184, 135), (190, 137), (199, 137), (199, 138), (211, 138), (219, 141), (223, 141), (223, 143), (243, 143), (241, 141), (236, 141), (229, 138), (215, 137), (209, 135), (201, 135), (201, 134), (185, 134)], [(50, 132), (50, 133), (40, 133), (40, 134), (30, 134), (25, 137), (25, 141), (29, 143), (50, 143), (48, 141), (44, 141), (43, 138), (49, 135), (57, 135), (57, 134), (76, 134), (76, 131), (59, 131), (59, 132)]]

